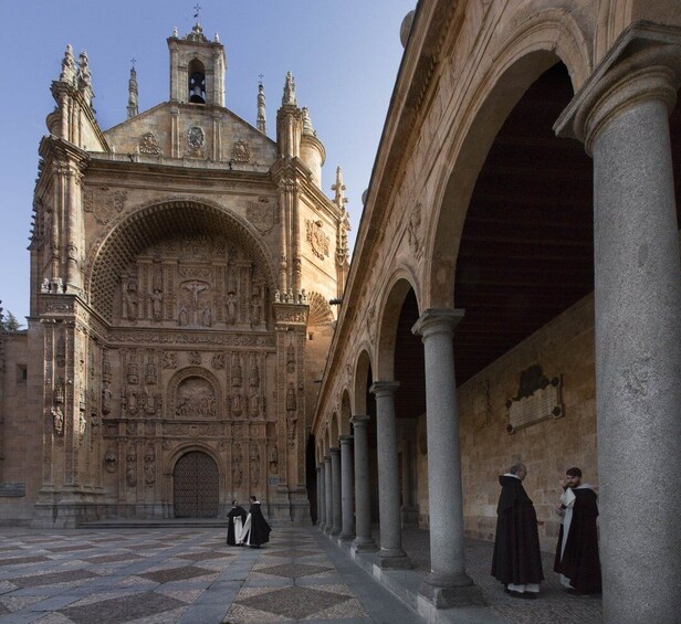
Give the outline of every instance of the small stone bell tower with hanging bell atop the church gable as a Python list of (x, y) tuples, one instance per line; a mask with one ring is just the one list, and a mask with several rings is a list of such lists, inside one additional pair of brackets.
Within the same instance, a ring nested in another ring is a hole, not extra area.
[(218, 35), (209, 41), (197, 22), (185, 38), (179, 38), (175, 29), (168, 49), (170, 102), (223, 107), (227, 59)]

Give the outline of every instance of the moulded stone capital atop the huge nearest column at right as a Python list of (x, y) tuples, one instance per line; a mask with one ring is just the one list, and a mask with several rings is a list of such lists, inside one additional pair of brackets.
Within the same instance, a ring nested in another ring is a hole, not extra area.
[(617, 39), (554, 125), (557, 136), (576, 138), (593, 154), (608, 121), (641, 101), (672, 110), (681, 84), (681, 29), (635, 22)]

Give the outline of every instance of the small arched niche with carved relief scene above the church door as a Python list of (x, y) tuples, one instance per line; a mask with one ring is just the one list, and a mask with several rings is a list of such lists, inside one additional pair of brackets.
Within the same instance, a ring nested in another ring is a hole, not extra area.
[(224, 417), (222, 388), (218, 378), (202, 367), (178, 370), (168, 382), (167, 416), (187, 420), (217, 420)]

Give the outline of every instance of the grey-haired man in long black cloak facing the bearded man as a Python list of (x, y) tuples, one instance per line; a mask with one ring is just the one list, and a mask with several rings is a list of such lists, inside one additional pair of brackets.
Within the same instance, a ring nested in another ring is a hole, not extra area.
[(514, 597), (536, 597), (544, 580), (537, 516), (523, 487), (526, 475), (525, 465), (516, 464), (499, 477), (492, 577)]

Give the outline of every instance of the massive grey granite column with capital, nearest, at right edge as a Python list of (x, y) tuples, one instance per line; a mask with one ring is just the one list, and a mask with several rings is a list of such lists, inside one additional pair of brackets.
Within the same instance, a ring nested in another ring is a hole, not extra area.
[(594, 158), (604, 620), (675, 622), (681, 274), (668, 114), (681, 76), (681, 33), (664, 36), (675, 45), (654, 44), (661, 34), (643, 24), (618, 42), (630, 34), (641, 51), (614, 61), (624, 52), (616, 45), (614, 66), (591, 75), (556, 126), (573, 121)]

